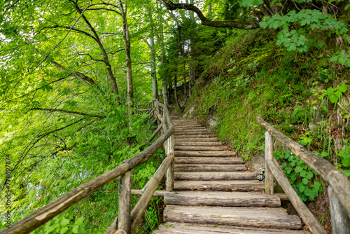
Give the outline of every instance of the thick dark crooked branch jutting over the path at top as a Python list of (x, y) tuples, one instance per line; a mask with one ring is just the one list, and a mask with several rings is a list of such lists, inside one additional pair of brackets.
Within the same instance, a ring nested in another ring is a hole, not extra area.
[(197, 16), (200, 18), (202, 25), (206, 25), (209, 27), (234, 27), (236, 29), (257, 29), (259, 28), (258, 22), (239, 22), (234, 20), (225, 20), (225, 21), (212, 21), (208, 20), (200, 11), (200, 8), (197, 8), (197, 6), (193, 4), (174, 4), (170, 0), (162, 0), (169, 9), (169, 11), (174, 11), (176, 9), (186, 9), (188, 11), (193, 11), (197, 14)]

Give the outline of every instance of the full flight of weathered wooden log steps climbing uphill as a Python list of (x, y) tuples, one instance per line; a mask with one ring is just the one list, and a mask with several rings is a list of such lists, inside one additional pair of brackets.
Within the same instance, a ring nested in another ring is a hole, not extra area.
[(174, 192), (165, 195), (160, 233), (309, 233), (241, 158), (194, 120), (172, 116)]

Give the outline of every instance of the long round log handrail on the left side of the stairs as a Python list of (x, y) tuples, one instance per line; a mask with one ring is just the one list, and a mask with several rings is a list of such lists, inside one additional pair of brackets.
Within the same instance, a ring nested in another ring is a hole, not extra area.
[[(157, 102), (158, 100), (155, 100), (155, 103)], [(159, 102), (158, 104), (159, 106), (163, 107)], [(153, 106), (153, 108), (155, 108), (155, 106)], [(170, 116), (166, 106), (165, 106), (165, 113), (167, 116)], [(39, 226), (43, 225), (53, 217), (57, 216), (58, 214), (62, 213), (64, 210), (68, 209), (72, 205), (76, 204), (77, 202), (85, 198), (87, 195), (90, 195), (94, 191), (97, 191), (98, 188), (101, 188), (105, 184), (108, 184), (114, 179), (117, 179), (121, 175), (125, 174), (125, 172), (128, 172), (134, 169), (138, 165), (145, 163), (149, 158), (151, 158), (151, 156), (153, 156), (154, 153), (158, 151), (158, 149), (160, 149), (165, 144), (165, 142), (172, 135), (174, 135), (174, 126), (172, 125), (172, 121), (170, 119), (169, 129), (163, 132), (163, 134), (160, 137), (158, 137), (158, 139), (155, 140), (155, 142), (153, 142), (151, 146), (149, 146), (147, 149), (145, 149), (141, 153), (137, 154), (137, 156), (134, 156), (132, 158), (129, 158), (123, 161), (123, 163), (121, 163), (118, 167), (114, 168), (113, 170), (110, 170), (109, 172), (101, 174), (98, 177), (95, 177), (94, 179), (87, 181), (86, 183), (78, 186), (77, 188), (74, 188), (73, 190), (69, 191), (65, 195), (62, 195), (62, 197), (57, 198), (57, 200), (50, 202), (48, 205), (45, 205), (45, 207), (42, 207), (41, 209), (38, 209), (36, 212), (32, 214), (29, 214), (29, 216), (26, 216), (20, 221), (13, 223), (13, 225), (11, 225), (10, 228), (4, 228), (3, 230), (0, 230), (0, 234), (29, 233), (31, 232), (31, 230), (38, 228)], [(167, 161), (169, 161), (168, 157), (167, 157), (168, 159)], [(174, 160), (172, 159), (170, 161), (174, 161)], [(165, 165), (165, 164), (162, 163), (162, 165)], [(167, 165), (169, 167), (169, 163), (167, 163)]]

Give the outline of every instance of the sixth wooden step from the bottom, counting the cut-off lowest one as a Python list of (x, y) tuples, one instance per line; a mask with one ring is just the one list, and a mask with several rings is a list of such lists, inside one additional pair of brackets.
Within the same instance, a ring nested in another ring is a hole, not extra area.
[(246, 165), (175, 164), (175, 172), (244, 172)]

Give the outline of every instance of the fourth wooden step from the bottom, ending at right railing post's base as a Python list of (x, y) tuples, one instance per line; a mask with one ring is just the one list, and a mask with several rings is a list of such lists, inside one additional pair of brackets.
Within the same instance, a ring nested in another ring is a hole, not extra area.
[[(176, 174), (176, 173), (175, 173)], [(174, 190), (213, 190), (213, 191), (264, 191), (265, 184), (258, 180), (246, 181), (174, 181)]]

